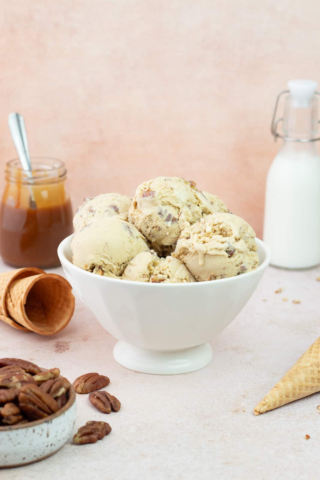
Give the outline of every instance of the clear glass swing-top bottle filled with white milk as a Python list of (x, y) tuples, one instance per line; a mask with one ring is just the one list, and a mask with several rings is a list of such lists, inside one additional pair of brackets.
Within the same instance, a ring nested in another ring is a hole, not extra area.
[[(301, 90), (299, 95), (300, 101)], [(293, 101), (293, 97), (290, 90), (284, 115), (284, 138), (315, 138), (316, 123), (311, 118), (317, 112), (315, 97), (312, 105), (304, 103), (303, 108), (299, 107), (296, 98)], [(263, 240), (271, 248), (271, 264), (286, 268), (320, 264), (320, 156), (317, 142), (284, 139), (268, 172), (264, 215)]]

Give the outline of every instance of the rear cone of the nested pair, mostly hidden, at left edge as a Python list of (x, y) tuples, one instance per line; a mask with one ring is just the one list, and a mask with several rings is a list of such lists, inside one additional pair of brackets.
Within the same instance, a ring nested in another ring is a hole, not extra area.
[(6, 293), (9, 288), (9, 285), (14, 279), (24, 278), (27, 276), (32, 276), (36, 274), (45, 273), (41, 268), (36, 267), (27, 267), (27, 268), (18, 268), (17, 270), (11, 270), (10, 272), (4, 272), (0, 274), (0, 320), (5, 322), (8, 325), (11, 325), (17, 330), (23, 330), (24, 332), (29, 332), (30, 330), (23, 325), (18, 324), (12, 318), (9, 317), (6, 310)]

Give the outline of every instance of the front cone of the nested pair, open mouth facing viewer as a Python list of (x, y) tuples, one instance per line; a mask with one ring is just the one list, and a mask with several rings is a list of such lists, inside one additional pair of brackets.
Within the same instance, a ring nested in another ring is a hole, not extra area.
[(14, 279), (5, 307), (12, 319), (40, 335), (53, 335), (71, 320), (74, 296), (62, 276), (44, 273)]

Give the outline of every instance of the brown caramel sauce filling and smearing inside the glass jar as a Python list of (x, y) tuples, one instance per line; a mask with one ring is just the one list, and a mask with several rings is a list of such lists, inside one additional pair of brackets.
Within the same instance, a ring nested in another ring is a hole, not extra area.
[(0, 255), (15, 267), (58, 266), (58, 245), (73, 231), (70, 199), (63, 181), (33, 185), (32, 191), (35, 210), (25, 184), (7, 183), (0, 205)]

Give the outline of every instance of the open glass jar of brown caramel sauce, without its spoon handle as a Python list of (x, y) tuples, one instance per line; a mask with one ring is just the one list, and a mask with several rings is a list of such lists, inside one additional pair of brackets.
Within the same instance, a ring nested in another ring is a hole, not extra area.
[(15, 267), (55, 267), (59, 243), (73, 231), (67, 170), (54, 158), (33, 157), (31, 162), (30, 178), (18, 159), (6, 164), (0, 255)]

